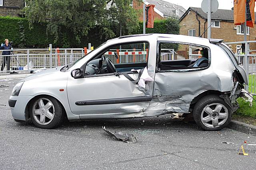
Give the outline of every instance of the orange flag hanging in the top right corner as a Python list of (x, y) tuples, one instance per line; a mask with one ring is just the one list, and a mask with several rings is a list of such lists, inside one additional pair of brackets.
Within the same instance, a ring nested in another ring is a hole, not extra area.
[(254, 7), (256, 0), (234, 0), (234, 24), (242, 25), (245, 22), (246, 12), (246, 25), (254, 27)]

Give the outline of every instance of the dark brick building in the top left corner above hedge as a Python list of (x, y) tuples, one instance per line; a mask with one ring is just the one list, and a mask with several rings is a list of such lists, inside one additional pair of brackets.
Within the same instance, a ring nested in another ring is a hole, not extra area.
[(0, 16), (20, 16), (25, 0), (0, 0)]

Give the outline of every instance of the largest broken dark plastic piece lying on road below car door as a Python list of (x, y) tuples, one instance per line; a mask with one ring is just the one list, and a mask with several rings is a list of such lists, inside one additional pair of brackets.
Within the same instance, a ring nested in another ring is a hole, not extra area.
[(102, 126), (102, 129), (110, 135), (110, 137), (116, 138), (116, 140), (121, 140), (125, 143), (137, 143), (137, 138), (133, 134), (126, 133), (126, 132), (110, 132), (109, 130), (106, 129), (106, 127)]

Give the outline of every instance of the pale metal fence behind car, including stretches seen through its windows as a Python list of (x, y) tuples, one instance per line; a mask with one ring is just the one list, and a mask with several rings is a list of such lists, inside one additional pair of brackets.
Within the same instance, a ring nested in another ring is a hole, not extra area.
[[(172, 60), (174, 57), (173, 49), (163, 49), (161, 53), (161, 60)], [(14, 49), (14, 50), (0, 50), (11, 51), (11, 55), (0, 55), (0, 66), (4, 65), (0, 74), (8, 71), (16, 72), (30, 72), (30, 70), (48, 69), (57, 66), (66, 65), (73, 61), (80, 59), (84, 55), (84, 49)], [(88, 51), (89, 52), (89, 51)], [(116, 53), (116, 55), (115, 55)], [(109, 50), (104, 54), (109, 57), (113, 63), (140, 63), (146, 62), (148, 58), (148, 49), (141, 51), (139, 49), (130, 50), (122, 49)], [(8, 68), (7, 61), (10, 61), (10, 68)]]

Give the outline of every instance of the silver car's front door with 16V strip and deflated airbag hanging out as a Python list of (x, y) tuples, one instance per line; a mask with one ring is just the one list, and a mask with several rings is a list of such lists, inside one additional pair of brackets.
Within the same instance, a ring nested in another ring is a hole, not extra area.
[[(119, 64), (122, 65), (122, 63), (126, 63), (124, 65), (127, 65), (129, 64), (129, 57), (136, 58), (136, 56), (122, 55), (122, 51), (128, 51), (129, 49), (124, 49), (124, 47), (119, 44), (117, 46), (120, 47), (118, 57)], [(132, 45), (130, 46), (132, 47)], [(127, 43), (125, 47), (128, 47)], [(111, 53), (111, 48), (113, 47), (108, 47), (108, 49), (103, 50), (105, 57), (112, 57), (113, 63), (118, 63), (118, 60), (114, 58), (115, 55)], [(123, 50), (121, 50), (121, 48)], [(135, 63), (140, 63), (141, 60), (139, 58), (144, 57), (145, 59), (146, 56), (148, 59), (152, 57), (155, 58), (155, 51), (150, 51), (150, 49), (146, 51), (145, 49), (143, 52), (144, 55), (138, 55), (138, 59), (135, 60)], [(127, 59), (127, 57), (128, 60), (124, 61), (123, 58)], [(130, 62), (131, 67), (133, 66), (132, 62)], [(138, 68), (138, 64), (135, 64), (135, 66)], [(118, 67), (120, 68), (120, 66)], [(128, 72), (128, 75), (135, 80), (138, 78), (139, 74)], [(151, 70), (150, 75), (154, 78), (154, 70)], [(140, 88), (138, 84), (128, 80), (123, 74), (95, 74), (78, 79), (70, 75), (68, 77), (67, 93), (70, 109), (72, 113), (76, 115), (135, 113), (148, 108), (152, 100), (153, 87), (154, 82), (148, 82), (145, 88)]]

